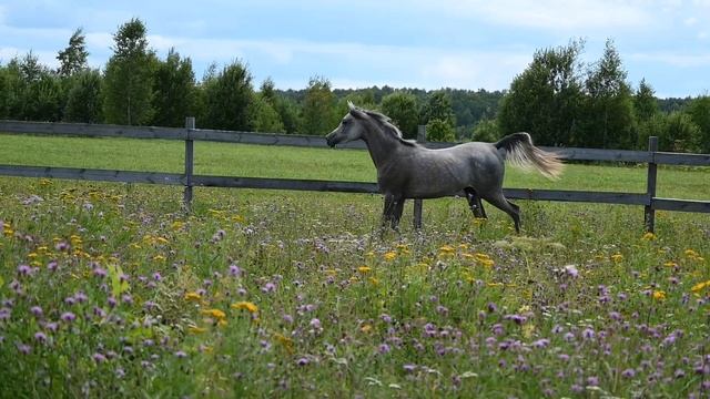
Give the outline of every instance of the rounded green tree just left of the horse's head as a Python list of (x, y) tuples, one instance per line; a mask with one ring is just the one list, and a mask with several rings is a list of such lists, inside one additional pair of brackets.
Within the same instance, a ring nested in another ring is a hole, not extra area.
[(301, 133), (324, 135), (337, 125), (342, 115), (335, 112), (335, 95), (331, 82), (322, 76), (311, 78), (303, 100), (303, 126)]

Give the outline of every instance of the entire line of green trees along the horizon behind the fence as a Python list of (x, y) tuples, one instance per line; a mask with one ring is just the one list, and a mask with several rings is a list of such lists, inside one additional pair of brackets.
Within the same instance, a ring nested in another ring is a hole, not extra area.
[(102, 70), (88, 66), (78, 29), (58, 52), (59, 68), (32, 52), (0, 64), (0, 119), (182, 126), (194, 115), (204, 129), (322, 135), (337, 125), (347, 102), (388, 115), (405, 137), (427, 126), (430, 141), (495, 141), (517, 131), (540, 145), (645, 149), (657, 135), (662, 150), (710, 152), (710, 98), (657, 99), (641, 81), (627, 82), (608, 41), (601, 59), (580, 61), (584, 42), (538, 50), (507, 91), (333, 89), (324, 76), (303, 90), (256, 89), (240, 60), (212, 64), (199, 81), (187, 57), (160, 59), (140, 19), (120, 25)]

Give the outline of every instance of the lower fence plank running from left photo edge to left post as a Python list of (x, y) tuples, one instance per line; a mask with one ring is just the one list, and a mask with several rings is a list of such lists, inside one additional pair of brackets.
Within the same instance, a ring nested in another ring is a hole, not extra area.
[(16, 177), (68, 178), (95, 182), (124, 182), (148, 184), (184, 184), (184, 176), (178, 173), (109, 171), (78, 167), (0, 165), (0, 175)]

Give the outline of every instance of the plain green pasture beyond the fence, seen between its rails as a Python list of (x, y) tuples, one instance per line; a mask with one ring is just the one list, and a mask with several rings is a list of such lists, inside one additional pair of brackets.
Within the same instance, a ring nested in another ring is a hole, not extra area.
[[(79, 139), (0, 135), (0, 163), (91, 167), (126, 171), (183, 171), (180, 141)], [(315, 178), (374, 182), (376, 172), (366, 151), (195, 143), (195, 173), (251, 177)], [(506, 187), (559, 188), (642, 193), (646, 165), (570, 164), (561, 180), (550, 182), (535, 173), (509, 167)], [(710, 168), (661, 167), (658, 195), (710, 198)]]

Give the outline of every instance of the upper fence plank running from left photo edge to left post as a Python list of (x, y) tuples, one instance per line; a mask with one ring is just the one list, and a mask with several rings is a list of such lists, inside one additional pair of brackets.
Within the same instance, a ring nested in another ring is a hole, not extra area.
[(185, 140), (183, 127), (120, 126), (89, 123), (23, 122), (0, 120), (0, 132), (81, 137)]

